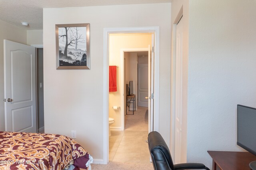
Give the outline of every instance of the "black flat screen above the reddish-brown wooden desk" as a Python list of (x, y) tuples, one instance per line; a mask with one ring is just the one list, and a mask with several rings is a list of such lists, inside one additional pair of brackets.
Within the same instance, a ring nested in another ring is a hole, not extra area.
[(237, 105), (237, 145), (256, 155), (256, 108)]

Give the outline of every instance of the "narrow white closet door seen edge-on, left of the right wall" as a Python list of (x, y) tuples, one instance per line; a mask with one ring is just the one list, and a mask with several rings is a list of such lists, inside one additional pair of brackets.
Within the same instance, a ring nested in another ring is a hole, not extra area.
[(182, 156), (182, 19), (176, 26), (176, 74), (175, 74), (175, 164)]

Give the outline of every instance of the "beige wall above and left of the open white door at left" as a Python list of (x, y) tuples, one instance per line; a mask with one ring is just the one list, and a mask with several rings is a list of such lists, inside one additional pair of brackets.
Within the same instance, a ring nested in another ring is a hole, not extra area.
[(4, 125), (4, 39), (26, 44), (27, 31), (0, 20), (0, 131), (5, 130)]

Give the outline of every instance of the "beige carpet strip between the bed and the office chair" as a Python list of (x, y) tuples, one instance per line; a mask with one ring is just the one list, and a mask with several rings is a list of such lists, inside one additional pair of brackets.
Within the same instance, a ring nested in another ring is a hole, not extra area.
[(92, 170), (154, 170), (152, 164), (130, 162), (108, 162), (108, 164), (92, 164)]

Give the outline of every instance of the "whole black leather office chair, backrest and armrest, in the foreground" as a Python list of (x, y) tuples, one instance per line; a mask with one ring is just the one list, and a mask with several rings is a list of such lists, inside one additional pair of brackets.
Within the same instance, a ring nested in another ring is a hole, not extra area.
[(170, 151), (160, 133), (152, 131), (148, 134), (148, 149), (152, 158), (154, 170), (210, 170), (204, 164), (183, 163), (173, 164)]

